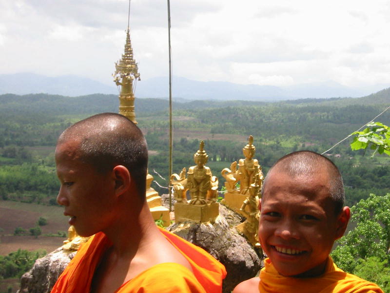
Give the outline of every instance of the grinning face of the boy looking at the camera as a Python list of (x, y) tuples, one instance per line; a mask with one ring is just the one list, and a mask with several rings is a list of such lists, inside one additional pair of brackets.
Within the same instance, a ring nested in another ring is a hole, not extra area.
[(258, 234), (280, 274), (315, 276), (324, 271), (333, 242), (342, 235), (329, 181), (324, 170), (291, 178), (273, 169), (269, 175)]

